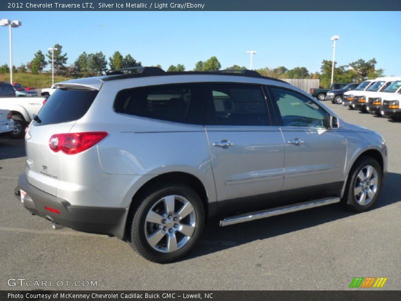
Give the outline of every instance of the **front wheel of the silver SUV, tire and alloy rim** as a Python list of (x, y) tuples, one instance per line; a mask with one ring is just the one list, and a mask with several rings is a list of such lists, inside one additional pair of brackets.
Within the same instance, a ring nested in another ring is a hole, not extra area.
[(343, 204), (356, 212), (369, 210), (380, 193), (382, 178), (377, 161), (371, 157), (361, 157), (349, 172)]

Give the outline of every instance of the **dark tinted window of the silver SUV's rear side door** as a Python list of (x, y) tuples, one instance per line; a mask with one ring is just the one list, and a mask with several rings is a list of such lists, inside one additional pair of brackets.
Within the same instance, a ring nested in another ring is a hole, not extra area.
[(261, 86), (212, 84), (209, 125), (271, 125)]

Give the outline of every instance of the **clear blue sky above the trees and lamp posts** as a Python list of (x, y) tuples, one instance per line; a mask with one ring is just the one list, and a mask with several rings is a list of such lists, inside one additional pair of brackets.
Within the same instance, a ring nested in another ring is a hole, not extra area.
[[(338, 35), (335, 60), (346, 65), (375, 58), (385, 75), (401, 75), (401, 12), (0, 12), (19, 20), (13, 29), (13, 64), (31, 61), (56, 43), (73, 64), (84, 51), (118, 50), (143, 66), (183, 64), (216, 56), (222, 68), (285, 66), (320, 71), (332, 59), (331, 36)], [(9, 64), (9, 32), (0, 28), (0, 65)], [(49, 69), (49, 67), (47, 68)]]

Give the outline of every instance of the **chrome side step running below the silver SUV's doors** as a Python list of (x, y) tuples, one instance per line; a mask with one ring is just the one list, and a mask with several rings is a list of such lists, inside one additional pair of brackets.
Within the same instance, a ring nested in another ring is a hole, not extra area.
[(304, 202), (304, 203), (297, 203), (297, 204), (292, 204), (292, 205), (287, 205), (287, 206), (282, 206), (282, 207), (276, 207), (276, 208), (272, 208), (269, 210), (246, 213), (243, 215), (238, 215), (238, 216), (233, 216), (233, 217), (222, 219), (220, 221), (220, 226), (224, 227), (224, 226), (249, 222), (249, 221), (253, 221), (253, 220), (257, 220), (257, 219), (261, 219), (261, 218), (286, 214), (286, 213), (305, 210), (305, 209), (314, 208), (314, 207), (320, 207), (320, 206), (324, 206), (324, 205), (330, 205), (330, 204), (339, 203), (339, 202), (340, 202), (340, 198), (319, 199), (319, 200), (308, 201), (308, 202)]

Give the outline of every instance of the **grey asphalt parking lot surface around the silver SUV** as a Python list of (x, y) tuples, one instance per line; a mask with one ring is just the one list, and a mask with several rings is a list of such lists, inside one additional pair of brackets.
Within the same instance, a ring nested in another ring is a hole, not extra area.
[[(32, 216), (14, 197), (24, 140), (0, 138), (0, 289), (349, 289), (353, 277), (401, 288), (401, 123), (325, 102), (344, 120), (381, 132), (388, 176), (375, 207), (339, 204), (220, 228), (209, 224), (184, 260), (156, 264), (116, 238)], [(88, 280), (96, 287), (9, 286), (8, 279)], [(370, 288), (373, 289), (373, 288)]]

